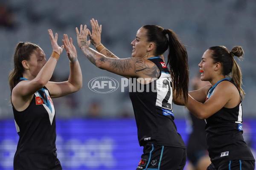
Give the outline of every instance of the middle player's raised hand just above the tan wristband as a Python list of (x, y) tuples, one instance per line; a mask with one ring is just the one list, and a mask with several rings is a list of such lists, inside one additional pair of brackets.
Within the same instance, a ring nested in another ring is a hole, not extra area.
[(94, 19), (90, 20), (90, 23), (92, 26), (92, 34), (88, 32), (90, 43), (96, 47), (101, 43), (102, 25), (99, 26), (98, 21)]

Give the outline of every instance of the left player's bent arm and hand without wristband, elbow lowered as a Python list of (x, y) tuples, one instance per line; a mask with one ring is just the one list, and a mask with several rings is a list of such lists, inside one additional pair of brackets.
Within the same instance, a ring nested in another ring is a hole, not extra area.
[(62, 40), (65, 50), (67, 51), (67, 57), (70, 60), (70, 76), (68, 81), (65, 82), (48, 82), (47, 88), (51, 93), (52, 98), (65, 96), (67, 94), (79, 91), (82, 87), (82, 73), (79, 62), (77, 60), (76, 48), (73, 45), (72, 38), (70, 41), (67, 34), (64, 34), (64, 40)]

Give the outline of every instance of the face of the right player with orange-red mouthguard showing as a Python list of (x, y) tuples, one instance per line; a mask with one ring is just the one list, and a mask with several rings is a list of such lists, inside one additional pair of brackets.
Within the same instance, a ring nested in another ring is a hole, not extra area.
[(207, 50), (204, 52), (201, 62), (199, 63), (201, 80), (202, 81), (211, 81), (212, 75), (215, 71), (215, 65), (211, 57), (212, 51)]

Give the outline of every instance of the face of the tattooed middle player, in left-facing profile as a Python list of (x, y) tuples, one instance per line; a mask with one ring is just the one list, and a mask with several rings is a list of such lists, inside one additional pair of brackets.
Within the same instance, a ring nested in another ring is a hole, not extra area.
[(131, 42), (132, 45), (132, 57), (144, 57), (148, 54), (149, 42), (147, 42), (147, 37), (145, 36), (146, 29), (140, 28), (137, 31), (136, 38)]

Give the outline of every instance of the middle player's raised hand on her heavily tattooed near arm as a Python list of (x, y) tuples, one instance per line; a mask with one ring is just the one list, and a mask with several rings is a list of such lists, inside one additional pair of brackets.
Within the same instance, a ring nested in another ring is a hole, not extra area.
[(89, 47), (90, 40), (87, 41), (88, 31), (89, 30), (86, 28), (86, 25), (84, 25), (84, 29), (83, 29), (83, 25), (80, 26), (80, 32), (76, 27), (77, 43), (79, 48), (82, 48), (82, 46)]

